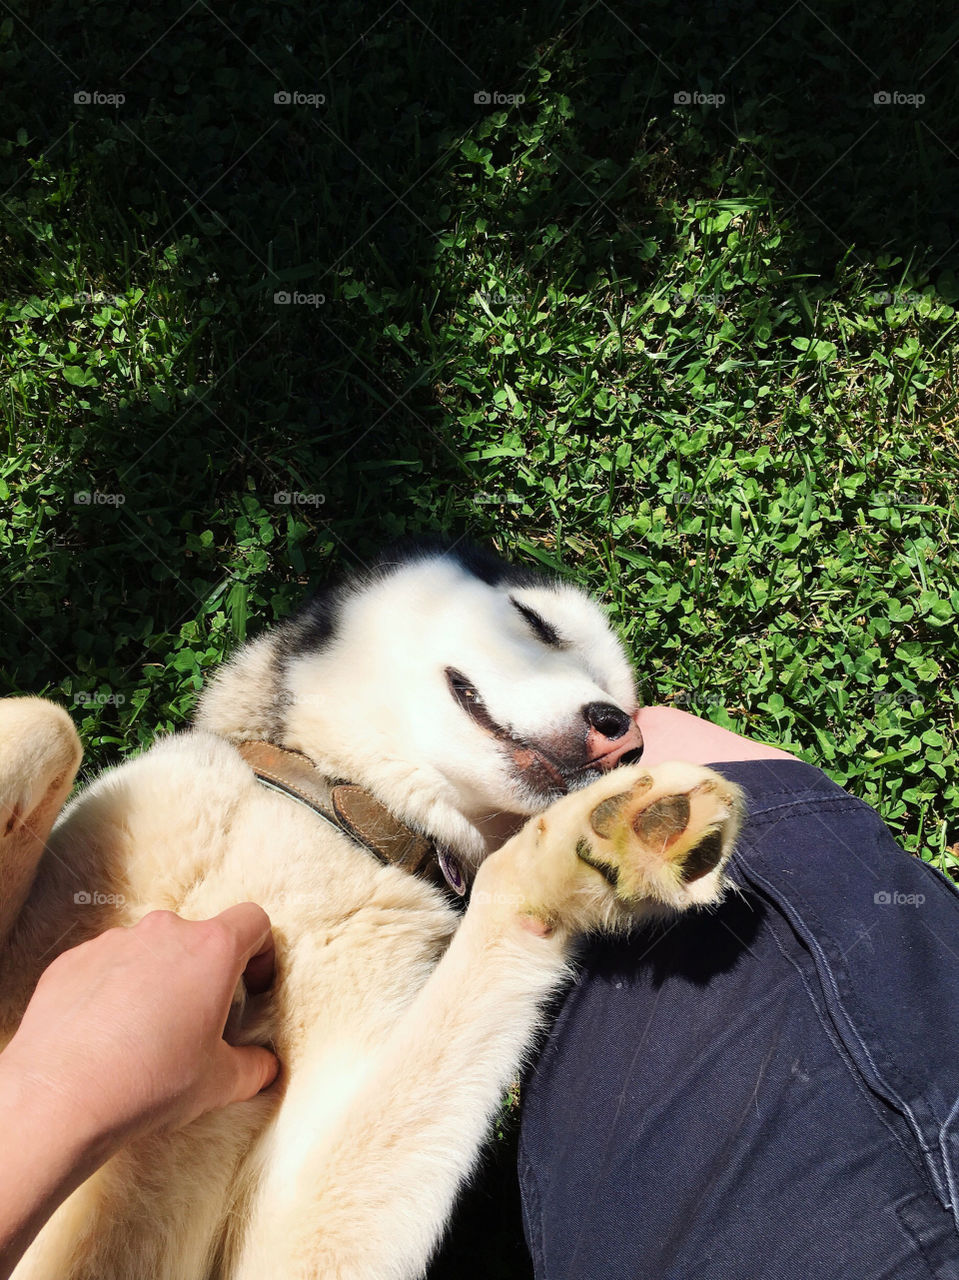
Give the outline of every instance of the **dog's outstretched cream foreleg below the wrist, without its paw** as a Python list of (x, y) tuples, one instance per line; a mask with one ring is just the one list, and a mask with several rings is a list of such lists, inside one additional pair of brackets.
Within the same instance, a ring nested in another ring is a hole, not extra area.
[[(297, 1167), (286, 1144), (268, 1162), (236, 1280), (421, 1276), (540, 1006), (566, 972), (558, 934), (539, 937), (471, 906), (346, 1116)], [(311, 1076), (311, 1056), (282, 1103), (287, 1134), (307, 1132), (324, 1097), (325, 1070)]]

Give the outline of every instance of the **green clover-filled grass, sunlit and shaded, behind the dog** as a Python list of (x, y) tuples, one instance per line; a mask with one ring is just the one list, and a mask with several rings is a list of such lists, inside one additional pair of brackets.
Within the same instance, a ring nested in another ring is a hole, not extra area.
[(4, 14), (1, 687), (88, 769), (439, 527), (955, 872), (954, 17)]

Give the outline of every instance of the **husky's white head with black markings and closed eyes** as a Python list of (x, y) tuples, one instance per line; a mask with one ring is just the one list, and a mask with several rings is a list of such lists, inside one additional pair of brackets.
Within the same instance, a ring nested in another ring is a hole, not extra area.
[(201, 724), (305, 751), (455, 847), (463, 823), (538, 813), (641, 751), (602, 609), (474, 547), (389, 552), (247, 652), (205, 695)]

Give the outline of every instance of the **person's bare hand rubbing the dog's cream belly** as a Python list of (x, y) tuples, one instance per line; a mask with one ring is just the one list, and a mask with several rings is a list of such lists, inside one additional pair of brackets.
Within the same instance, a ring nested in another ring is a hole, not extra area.
[(223, 1039), (243, 973), (252, 992), (273, 980), (261, 908), (242, 902), (198, 922), (151, 911), (52, 961), (0, 1073), (69, 1116), (97, 1161), (132, 1137), (181, 1128), (277, 1076), (268, 1050)]

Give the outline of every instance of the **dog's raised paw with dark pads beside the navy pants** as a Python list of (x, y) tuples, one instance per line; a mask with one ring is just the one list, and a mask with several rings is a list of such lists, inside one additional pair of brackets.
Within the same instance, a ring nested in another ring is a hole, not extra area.
[(613, 769), (533, 818), (480, 868), (474, 897), (533, 932), (621, 929), (720, 901), (743, 794), (712, 769)]

